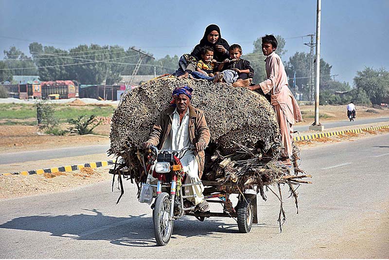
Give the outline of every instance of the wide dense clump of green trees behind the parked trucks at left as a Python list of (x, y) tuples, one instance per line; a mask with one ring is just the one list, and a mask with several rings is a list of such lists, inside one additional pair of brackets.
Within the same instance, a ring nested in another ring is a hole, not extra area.
[[(30, 44), (41, 80), (77, 80), (81, 84), (111, 85), (121, 80), (127, 63), (135, 63), (134, 51), (119, 46), (79, 45), (70, 51)], [(62, 66), (65, 65), (65, 66)], [(43, 67), (43, 68), (42, 68)], [(135, 66), (134, 66), (135, 67)], [(131, 71), (132, 73), (132, 71)]]

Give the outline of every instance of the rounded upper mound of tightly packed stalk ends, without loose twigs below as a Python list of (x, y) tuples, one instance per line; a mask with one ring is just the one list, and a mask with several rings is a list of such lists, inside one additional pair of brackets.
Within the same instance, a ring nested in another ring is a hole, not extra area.
[(194, 89), (191, 104), (205, 112), (211, 141), (224, 152), (237, 148), (232, 141), (241, 144), (261, 141), (265, 150), (279, 142), (274, 111), (263, 96), (223, 83), (159, 78), (132, 90), (115, 110), (109, 153), (140, 147), (159, 114), (169, 106), (172, 91), (185, 85)]

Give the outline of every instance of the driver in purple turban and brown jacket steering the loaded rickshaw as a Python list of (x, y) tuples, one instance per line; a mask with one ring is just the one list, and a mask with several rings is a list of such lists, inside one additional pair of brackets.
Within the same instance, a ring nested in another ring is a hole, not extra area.
[[(161, 151), (177, 151), (191, 144), (194, 145), (196, 151), (188, 151), (180, 159), (186, 174), (185, 184), (192, 183), (192, 180), (200, 181), (204, 169), (204, 149), (211, 136), (204, 112), (190, 104), (192, 91), (193, 89), (187, 86), (178, 87), (173, 91), (171, 106), (161, 112), (153, 126), (150, 138), (142, 144), (144, 149), (154, 145)], [(204, 199), (203, 191), (202, 184), (185, 187), (185, 195), (196, 194), (196, 197), (188, 200), (196, 206), (197, 210), (204, 212), (209, 209), (209, 204)]]

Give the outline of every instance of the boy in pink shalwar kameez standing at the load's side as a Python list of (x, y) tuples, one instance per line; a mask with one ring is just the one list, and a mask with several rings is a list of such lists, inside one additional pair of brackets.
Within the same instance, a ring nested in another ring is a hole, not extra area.
[(302, 121), (299, 104), (297, 104), (292, 92), (288, 87), (288, 78), (280, 56), (275, 53), (277, 49), (277, 39), (274, 35), (262, 37), (262, 52), (266, 57), (267, 79), (258, 85), (248, 87), (251, 90), (261, 88), (267, 94), (271, 94), (271, 104), (277, 115), (280, 126), (281, 141), (284, 149), (281, 160), (286, 165), (291, 165), (290, 158), (293, 155), (293, 125)]

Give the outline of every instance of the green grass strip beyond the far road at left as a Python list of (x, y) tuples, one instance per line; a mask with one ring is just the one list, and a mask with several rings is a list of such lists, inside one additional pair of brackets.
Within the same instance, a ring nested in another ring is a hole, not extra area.
[[(55, 106), (54, 116), (60, 122), (66, 122), (68, 119), (74, 119), (79, 116), (108, 117), (112, 116), (115, 107), (88, 105), (82, 107), (58, 104)], [(0, 119), (30, 119), (36, 118), (36, 108), (34, 104), (0, 104)], [(1, 124), (1, 123), (0, 123)], [(3, 124), (23, 124), (23, 122), (8, 121)]]

